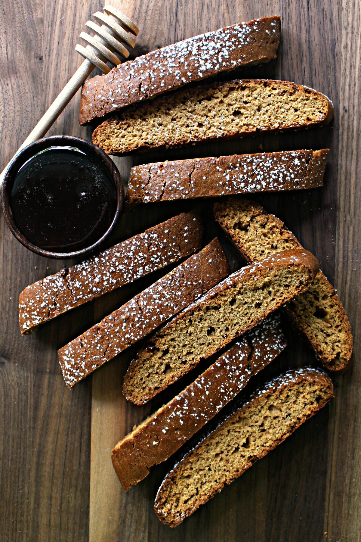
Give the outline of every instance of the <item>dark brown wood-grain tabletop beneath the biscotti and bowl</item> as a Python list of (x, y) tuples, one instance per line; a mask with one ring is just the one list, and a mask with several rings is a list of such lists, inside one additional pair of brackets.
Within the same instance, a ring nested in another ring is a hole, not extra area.
[[(155, 159), (329, 146), (323, 189), (258, 199), (317, 255), (337, 288), (355, 337), (355, 362), (345, 375), (334, 377), (336, 397), (329, 407), (193, 517), (170, 530), (157, 520), (153, 501), (172, 461), (153, 468), (128, 493), (122, 491), (110, 461), (110, 450), (119, 438), (167, 396), (144, 408), (127, 404), (121, 385), (132, 349), (71, 391), (64, 385), (56, 353), (155, 276), (65, 314), (30, 337), (21, 337), (19, 292), (71, 262), (32, 254), (12, 237), (1, 217), (0, 539), (360, 540), (360, 4), (352, 0), (114, 0), (113, 4), (141, 29), (135, 55), (227, 24), (281, 15), (283, 38), (277, 61), (242, 73), (296, 81), (327, 94), (335, 106), (329, 127), (142, 154), (116, 162), (126, 180), (131, 164)], [(102, 3), (95, 0), (2, 1), (2, 167), (80, 64), (74, 51), (77, 36), (98, 9)], [(90, 128), (77, 124), (79, 98), (77, 94), (51, 134), (90, 139)], [(127, 213), (110, 242), (192, 205), (155, 205)], [(205, 202), (203, 208), (206, 241), (218, 230), (209, 219), (211, 202)], [(235, 251), (226, 247), (233, 268), (239, 266)], [(290, 366), (317, 364), (297, 334), (287, 330), (287, 335), (290, 345), (259, 375), (260, 381)]]

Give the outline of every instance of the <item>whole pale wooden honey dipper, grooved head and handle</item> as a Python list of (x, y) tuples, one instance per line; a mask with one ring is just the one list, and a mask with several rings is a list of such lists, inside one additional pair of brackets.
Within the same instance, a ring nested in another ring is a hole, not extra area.
[[(73, 77), (67, 82), (57, 98), (52, 102), (48, 111), (42, 116), (34, 130), (30, 132), (16, 154), (30, 143), (34, 143), (34, 141), (44, 137), (45, 133), (47, 133), (50, 126), (54, 124), (64, 107), (81, 87), (82, 83), (87, 79), (91, 72), (93, 72), (95, 66), (100, 68), (103, 72), (108, 73), (110, 72), (110, 68), (106, 64), (108, 60), (115, 65), (122, 62), (115, 53), (120, 53), (124, 58), (128, 58), (129, 51), (124, 47), (123, 43), (130, 48), (135, 46), (135, 40), (129, 32), (134, 36), (137, 36), (139, 34), (138, 27), (126, 15), (119, 11), (119, 9), (113, 8), (111, 5), (104, 6), (103, 11), (104, 13), (97, 11), (93, 15), (94, 19), (99, 22), (100, 25), (93, 21), (86, 22), (86, 26), (90, 28), (90, 30), (93, 30), (95, 35), (90, 36), (85, 32), (80, 34), (80, 37), (87, 43), (87, 46), (83, 47), (79, 44), (75, 46), (75, 50), (80, 53), (85, 60), (81, 66), (78, 67)], [(9, 164), (0, 175), (0, 187), (3, 183), (3, 178)]]

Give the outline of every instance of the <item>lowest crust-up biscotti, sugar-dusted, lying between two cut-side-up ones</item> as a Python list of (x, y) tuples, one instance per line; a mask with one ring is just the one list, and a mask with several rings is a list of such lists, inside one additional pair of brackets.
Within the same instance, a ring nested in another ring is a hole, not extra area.
[(286, 346), (279, 317), (270, 317), (221, 356), (172, 401), (114, 448), (111, 459), (123, 489), (143, 480), (211, 420)]

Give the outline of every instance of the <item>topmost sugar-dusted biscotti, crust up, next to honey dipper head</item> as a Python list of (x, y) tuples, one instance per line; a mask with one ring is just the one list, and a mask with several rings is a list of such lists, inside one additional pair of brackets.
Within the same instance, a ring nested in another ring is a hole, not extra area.
[(220, 28), (123, 62), (82, 88), (79, 124), (191, 81), (275, 58), (280, 17)]

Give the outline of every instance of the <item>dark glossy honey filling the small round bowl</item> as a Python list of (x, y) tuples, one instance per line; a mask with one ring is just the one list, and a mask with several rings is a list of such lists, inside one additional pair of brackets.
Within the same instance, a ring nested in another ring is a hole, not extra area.
[(116, 188), (95, 154), (50, 146), (17, 172), (10, 208), (17, 228), (31, 243), (71, 253), (107, 232), (117, 208)]

